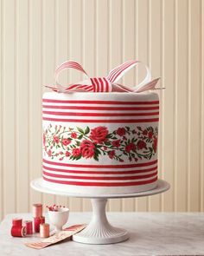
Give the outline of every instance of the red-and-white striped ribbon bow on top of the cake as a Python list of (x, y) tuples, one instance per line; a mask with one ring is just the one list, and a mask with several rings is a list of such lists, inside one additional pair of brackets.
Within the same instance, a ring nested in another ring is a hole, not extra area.
[[(86, 71), (82, 68), (82, 66), (78, 62), (63, 62), (61, 65), (55, 70), (54, 78), (55, 78), (55, 87), (47, 86), (50, 89), (53, 89), (59, 93), (69, 93), (69, 92), (143, 92), (150, 89), (155, 89), (156, 83), (160, 78), (156, 78), (151, 80), (150, 69), (144, 65), (146, 69), (146, 76), (142, 82), (137, 84), (135, 87), (127, 87), (122, 84), (118, 84), (118, 80), (130, 69), (135, 67), (137, 64), (142, 63), (138, 61), (128, 61), (119, 65), (115, 69), (112, 69), (108, 76), (106, 77), (89, 77)], [(142, 63), (143, 64), (143, 63)], [(62, 86), (60, 82), (58, 82), (58, 77), (62, 70), (64, 69), (77, 69), (78, 71), (84, 73), (87, 76), (87, 79), (82, 82), (77, 82), (74, 84), (70, 84), (67, 87)]]

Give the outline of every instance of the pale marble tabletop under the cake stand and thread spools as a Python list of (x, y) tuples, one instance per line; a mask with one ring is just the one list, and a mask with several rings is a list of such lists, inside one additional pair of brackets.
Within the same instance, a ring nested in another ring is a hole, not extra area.
[[(112, 245), (86, 245), (66, 241), (41, 250), (24, 246), (34, 237), (10, 236), (11, 220), (31, 220), (31, 213), (7, 215), (0, 224), (0, 255), (204, 255), (204, 213), (107, 213), (113, 226), (123, 227), (130, 239)], [(92, 213), (70, 213), (67, 226), (88, 223)]]

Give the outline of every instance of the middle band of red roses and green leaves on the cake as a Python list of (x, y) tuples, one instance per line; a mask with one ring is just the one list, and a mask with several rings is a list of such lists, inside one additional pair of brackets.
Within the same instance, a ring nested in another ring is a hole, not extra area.
[(83, 129), (49, 124), (43, 128), (43, 149), (49, 158), (59, 161), (99, 161), (104, 155), (119, 162), (150, 160), (156, 154), (157, 135), (157, 128), (151, 126), (125, 126), (110, 132), (105, 126)]

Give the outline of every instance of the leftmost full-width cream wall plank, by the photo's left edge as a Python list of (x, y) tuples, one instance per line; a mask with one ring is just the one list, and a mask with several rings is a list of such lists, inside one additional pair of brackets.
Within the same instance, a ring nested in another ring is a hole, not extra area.
[(3, 213), (16, 212), (16, 2), (3, 1)]

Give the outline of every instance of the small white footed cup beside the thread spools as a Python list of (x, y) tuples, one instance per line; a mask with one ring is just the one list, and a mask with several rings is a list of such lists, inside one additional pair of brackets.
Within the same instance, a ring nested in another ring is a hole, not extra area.
[(55, 232), (60, 232), (62, 226), (67, 223), (69, 216), (69, 209), (64, 207), (59, 207), (58, 212), (48, 211), (48, 218), (50, 224), (55, 226)]

